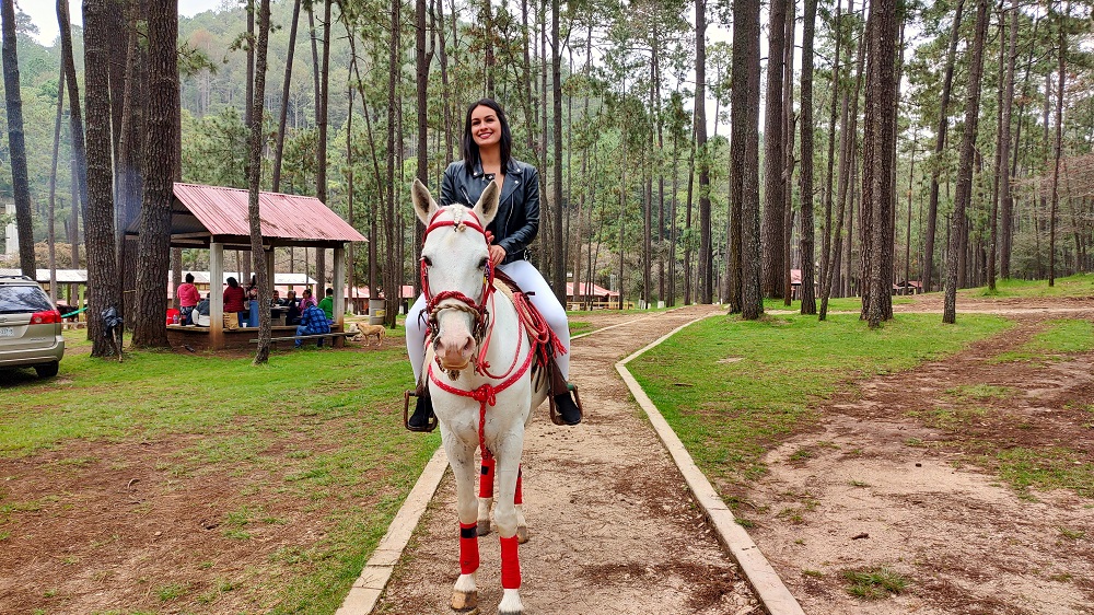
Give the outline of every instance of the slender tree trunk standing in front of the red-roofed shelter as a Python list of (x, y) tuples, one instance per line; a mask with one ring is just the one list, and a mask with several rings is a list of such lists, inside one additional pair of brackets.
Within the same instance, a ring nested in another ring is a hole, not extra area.
[[(330, 36), (330, 3), (327, 3), (327, 38)], [(270, 288), (272, 271), (266, 269), (266, 252), (263, 250), (261, 216), (258, 201), (258, 190), (263, 182), (261, 152), (265, 136), (263, 134), (263, 107), (266, 100), (266, 54), (269, 47), (270, 33), (270, 0), (260, 0), (258, 9), (258, 48), (255, 54), (255, 97), (252, 100), (251, 137), (247, 164), (247, 218), (251, 222), (251, 260), (258, 278), (258, 349), (255, 351), (254, 364), (261, 365), (269, 360), (271, 323), (268, 305), (274, 297)], [(272, 248), (271, 248), (272, 250)], [(342, 289), (338, 289), (341, 292)]]

